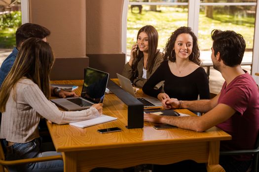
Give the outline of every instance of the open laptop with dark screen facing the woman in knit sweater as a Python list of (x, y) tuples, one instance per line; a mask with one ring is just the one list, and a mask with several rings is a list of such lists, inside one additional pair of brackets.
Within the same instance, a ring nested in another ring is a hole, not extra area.
[(51, 99), (67, 111), (90, 108), (95, 103), (103, 103), (109, 74), (90, 67), (84, 69), (84, 84), (80, 97)]

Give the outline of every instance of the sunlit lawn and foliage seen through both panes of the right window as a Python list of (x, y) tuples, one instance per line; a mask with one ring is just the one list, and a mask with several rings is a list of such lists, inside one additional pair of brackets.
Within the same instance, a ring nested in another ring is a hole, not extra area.
[[(186, 7), (157, 5), (157, 9), (157, 12), (149, 11), (149, 5), (143, 5), (142, 13), (138, 14), (138, 8), (133, 8), (133, 13), (131, 13), (129, 5), (127, 18), (128, 50), (136, 42), (138, 30), (145, 25), (152, 25), (157, 29), (159, 34), (158, 49), (160, 50), (165, 47), (168, 38), (175, 29), (187, 26), (188, 9)], [(226, 9), (225, 6), (218, 6), (213, 11), (213, 19), (205, 17), (204, 10), (201, 9), (198, 31), (200, 50), (210, 50), (212, 46), (211, 31), (213, 29), (234, 30), (244, 36), (247, 48), (253, 48), (255, 14), (247, 15), (245, 10), (236, 9), (231, 14)]]

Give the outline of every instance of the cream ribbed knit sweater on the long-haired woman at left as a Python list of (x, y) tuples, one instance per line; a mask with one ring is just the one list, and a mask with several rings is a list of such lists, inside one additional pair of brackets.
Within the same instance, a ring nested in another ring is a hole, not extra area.
[(39, 137), (38, 123), (42, 117), (57, 124), (87, 120), (99, 116), (96, 108), (65, 112), (50, 102), (30, 79), (16, 84), (16, 101), (12, 89), (2, 113), (0, 138), (14, 143), (27, 143)]

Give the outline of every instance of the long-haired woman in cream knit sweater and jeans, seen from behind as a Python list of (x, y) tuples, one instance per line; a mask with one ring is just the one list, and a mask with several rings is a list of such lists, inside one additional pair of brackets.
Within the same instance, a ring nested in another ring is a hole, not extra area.
[[(49, 73), (54, 55), (48, 43), (29, 38), (23, 45), (14, 65), (0, 88), (2, 113), (0, 138), (5, 139), (6, 159), (56, 155), (39, 152), (38, 123), (41, 117), (57, 124), (95, 118), (102, 114), (102, 104), (76, 112), (60, 111), (49, 101)], [(63, 161), (10, 166), (11, 172), (63, 172)]]

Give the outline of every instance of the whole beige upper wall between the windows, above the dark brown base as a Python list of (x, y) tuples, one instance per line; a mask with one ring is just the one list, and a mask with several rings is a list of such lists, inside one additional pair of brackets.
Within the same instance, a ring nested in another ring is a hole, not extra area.
[(123, 0), (29, 0), (30, 22), (51, 30), (57, 57), (121, 53)]

